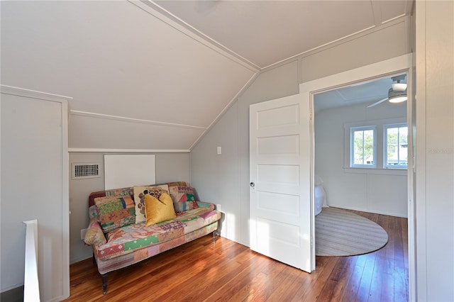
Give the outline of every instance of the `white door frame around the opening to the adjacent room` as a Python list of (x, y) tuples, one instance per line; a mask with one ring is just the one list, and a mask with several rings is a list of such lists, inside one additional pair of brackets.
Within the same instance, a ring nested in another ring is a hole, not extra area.
[[(378, 79), (386, 77), (388, 75), (396, 74), (399, 72), (406, 72), (407, 74), (407, 125), (411, 127), (414, 125), (414, 115), (415, 110), (414, 106), (414, 95), (413, 95), (413, 83), (414, 83), (414, 67), (413, 67), (413, 55), (406, 54), (400, 57), (394, 57), (389, 60), (384, 60), (382, 62), (377, 62), (371, 65), (366, 65), (363, 67), (358, 67), (355, 69), (350, 69), (346, 72), (341, 72), (338, 74), (333, 74), (328, 77), (323, 77), (320, 79), (315, 79), (313, 81), (304, 82), (299, 84), (299, 93), (301, 94), (304, 102), (309, 103), (310, 114), (311, 114), (311, 212), (312, 217), (314, 217), (314, 151), (315, 151), (315, 142), (314, 142), (314, 94), (319, 94), (325, 91), (331, 91), (334, 89), (341, 88), (343, 86), (349, 86), (352, 84), (358, 84), (360, 82), (365, 82), (368, 80)], [(414, 145), (414, 135), (413, 131), (409, 131), (409, 145)], [(408, 162), (408, 172), (407, 172), (407, 185), (408, 185), (408, 237), (409, 237), (409, 298), (410, 301), (414, 300), (416, 296), (416, 262), (415, 262), (415, 208), (414, 208), (414, 150), (409, 148), (409, 162)], [(311, 236), (315, 240), (315, 228), (312, 228)], [(315, 242), (316, 243), (316, 242)], [(312, 246), (312, 259), (311, 267), (315, 269), (315, 244)]]

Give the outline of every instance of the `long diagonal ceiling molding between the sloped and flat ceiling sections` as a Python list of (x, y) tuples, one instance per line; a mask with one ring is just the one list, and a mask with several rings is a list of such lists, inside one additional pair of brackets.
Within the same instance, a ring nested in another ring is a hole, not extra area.
[(253, 62), (241, 57), (233, 50), (230, 50), (228, 47), (218, 43), (216, 40), (209, 38), (208, 35), (201, 33), (201, 31), (196, 30), (196, 28), (190, 26), (188, 23), (182, 21), (177, 16), (170, 13), (166, 9), (163, 9), (158, 4), (150, 0), (128, 0), (129, 3), (137, 6), (143, 11), (150, 13), (150, 15), (158, 18), (160, 21), (166, 23), (168, 26), (172, 26), (180, 33), (187, 35), (189, 38), (196, 40), (197, 42), (209, 47), (211, 50), (218, 52), (220, 55), (227, 57), (229, 60), (236, 62), (237, 64), (249, 69), (252, 72), (260, 71), (260, 67), (255, 65)]

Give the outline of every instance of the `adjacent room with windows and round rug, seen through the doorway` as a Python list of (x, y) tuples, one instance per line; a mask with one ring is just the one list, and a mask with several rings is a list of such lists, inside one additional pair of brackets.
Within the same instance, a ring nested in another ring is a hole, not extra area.
[(379, 225), (341, 209), (408, 217), (406, 88), (406, 74), (395, 74), (314, 96), (316, 255), (387, 244)]

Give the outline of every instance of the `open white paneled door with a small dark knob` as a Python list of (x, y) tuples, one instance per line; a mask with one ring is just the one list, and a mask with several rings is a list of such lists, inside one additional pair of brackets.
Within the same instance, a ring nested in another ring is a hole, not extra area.
[(310, 110), (301, 95), (250, 106), (250, 248), (311, 272)]

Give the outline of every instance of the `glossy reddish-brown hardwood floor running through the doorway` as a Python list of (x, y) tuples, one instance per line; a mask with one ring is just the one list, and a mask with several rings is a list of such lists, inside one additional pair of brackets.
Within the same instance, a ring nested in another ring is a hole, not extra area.
[(92, 259), (72, 264), (65, 301), (408, 301), (406, 218), (351, 212), (382, 225), (387, 245), (366, 255), (316, 257), (308, 274), (207, 235), (109, 273), (106, 296)]

